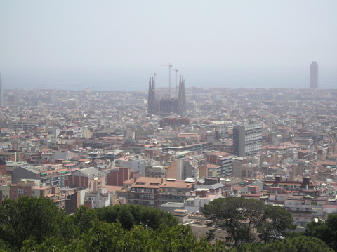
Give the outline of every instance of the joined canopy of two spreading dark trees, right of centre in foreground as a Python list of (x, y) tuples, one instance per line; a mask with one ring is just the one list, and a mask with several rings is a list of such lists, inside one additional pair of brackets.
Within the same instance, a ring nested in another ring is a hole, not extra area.
[(204, 214), (227, 231), (227, 245), (283, 238), (295, 229), (291, 214), (279, 206), (265, 206), (261, 201), (244, 197), (216, 199), (205, 206)]

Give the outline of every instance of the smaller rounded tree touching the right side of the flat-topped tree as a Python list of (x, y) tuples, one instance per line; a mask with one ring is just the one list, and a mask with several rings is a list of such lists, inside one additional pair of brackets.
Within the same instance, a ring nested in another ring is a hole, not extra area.
[(267, 206), (263, 220), (258, 227), (258, 232), (261, 241), (265, 243), (284, 239), (286, 232), (296, 228), (291, 213), (281, 206)]

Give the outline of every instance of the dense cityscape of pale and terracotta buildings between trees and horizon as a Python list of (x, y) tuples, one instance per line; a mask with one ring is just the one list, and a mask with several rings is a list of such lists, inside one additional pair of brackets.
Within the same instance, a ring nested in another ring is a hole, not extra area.
[(4, 90), (1, 201), (152, 206), (197, 237), (218, 198), (282, 206), (298, 232), (337, 213), (336, 90), (177, 87)]

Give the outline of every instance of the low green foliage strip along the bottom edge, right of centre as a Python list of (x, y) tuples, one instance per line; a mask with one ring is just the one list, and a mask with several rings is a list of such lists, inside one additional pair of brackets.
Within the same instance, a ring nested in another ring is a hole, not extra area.
[(324, 241), (315, 237), (296, 237), (270, 244), (240, 244), (229, 252), (332, 252)]

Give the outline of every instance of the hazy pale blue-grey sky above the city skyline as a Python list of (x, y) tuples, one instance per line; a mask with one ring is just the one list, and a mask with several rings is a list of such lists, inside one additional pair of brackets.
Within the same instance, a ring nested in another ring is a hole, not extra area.
[[(0, 0), (5, 89), (337, 86), (336, 0)], [(164, 65), (164, 66), (163, 66)]]

